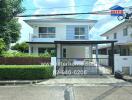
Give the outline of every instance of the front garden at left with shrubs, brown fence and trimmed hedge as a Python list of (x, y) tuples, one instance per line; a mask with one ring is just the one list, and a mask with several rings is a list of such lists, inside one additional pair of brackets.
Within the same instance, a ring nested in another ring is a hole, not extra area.
[(29, 54), (24, 46), (5, 50), (2, 42), (1, 40), (0, 80), (39, 80), (53, 77), (53, 66), (50, 65), (52, 54)]

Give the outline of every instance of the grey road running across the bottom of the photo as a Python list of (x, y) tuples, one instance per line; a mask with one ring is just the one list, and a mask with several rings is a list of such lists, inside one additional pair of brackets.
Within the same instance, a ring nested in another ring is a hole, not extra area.
[(131, 86), (0, 86), (0, 100), (132, 100)]

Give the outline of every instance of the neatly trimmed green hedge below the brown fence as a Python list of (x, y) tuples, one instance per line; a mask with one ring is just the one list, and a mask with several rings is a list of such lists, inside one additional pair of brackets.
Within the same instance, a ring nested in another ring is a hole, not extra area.
[(49, 65), (0, 65), (1, 80), (36, 80), (53, 77)]

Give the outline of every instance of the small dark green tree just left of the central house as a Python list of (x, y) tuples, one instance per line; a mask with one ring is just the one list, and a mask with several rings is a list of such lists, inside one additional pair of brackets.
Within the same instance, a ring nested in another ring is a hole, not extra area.
[(12, 50), (17, 50), (23, 53), (28, 53), (29, 45), (26, 42), (23, 43), (16, 43), (14, 46), (11, 47)]

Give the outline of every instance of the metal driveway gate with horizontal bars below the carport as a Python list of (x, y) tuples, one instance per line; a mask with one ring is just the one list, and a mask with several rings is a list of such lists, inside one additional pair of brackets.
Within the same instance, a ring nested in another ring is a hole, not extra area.
[(111, 74), (108, 58), (57, 58), (57, 75)]

